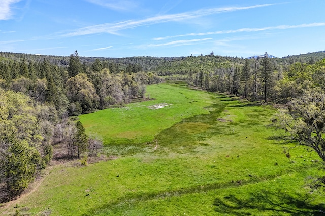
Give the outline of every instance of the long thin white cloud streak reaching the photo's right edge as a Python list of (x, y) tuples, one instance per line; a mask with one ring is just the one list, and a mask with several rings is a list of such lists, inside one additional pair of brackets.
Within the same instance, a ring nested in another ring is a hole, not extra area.
[(240, 33), (240, 32), (257, 32), (257, 31), (266, 31), (266, 30), (276, 30), (276, 29), (293, 29), (293, 28), (309, 28), (309, 27), (321, 27), (325, 26), (325, 23), (309, 23), (309, 24), (301, 24), (301, 25), (278, 25), (271, 27), (263, 27), (263, 28), (240, 28), (236, 30), (222, 30), (222, 31), (214, 31), (214, 32), (204, 32), (204, 33), (188, 33), (188, 34), (179, 34), (174, 36), (166, 36), (166, 37), (156, 37), (153, 40), (164, 40), (176, 37), (187, 37), (187, 36), (207, 36), (207, 35), (215, 35), (215, 34), (230, 34), (230, 33)]

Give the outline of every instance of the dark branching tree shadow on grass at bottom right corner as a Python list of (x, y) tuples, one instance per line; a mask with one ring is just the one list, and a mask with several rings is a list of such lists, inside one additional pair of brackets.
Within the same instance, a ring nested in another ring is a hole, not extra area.
[(213, 204), (215, 211), (233, 215), (252, 214), (291, 214), (291, 215), (324, 215), (325, 206), (311, 204), (311, 195), (289, 195), (284, 192), (257, 191), (249, 198), (235, 195), (216, 198)]

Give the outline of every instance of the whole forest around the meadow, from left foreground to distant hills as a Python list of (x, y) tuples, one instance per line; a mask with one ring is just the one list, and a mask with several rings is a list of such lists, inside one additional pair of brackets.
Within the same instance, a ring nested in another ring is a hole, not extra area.
[[(0, 53), (0, 202), (19, 195), (56, 148), (94, 156), (101, 138), (71, 116), (144, 100), (146, 85), (183, 79), (192, 88), (286, 103), (325, 88), (324, 52), (284, 58), (67, 57)], [(69, 117), (70, 116), (70, 117)], [(53, 150), (54, 149), (54, 150)], [(86, 159), (85, 159), (86, 160)]]

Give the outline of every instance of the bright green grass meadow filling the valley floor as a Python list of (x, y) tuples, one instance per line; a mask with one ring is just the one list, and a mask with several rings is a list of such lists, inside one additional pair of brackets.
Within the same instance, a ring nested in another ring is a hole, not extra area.
[[(276, 110), (184, 84), (147, 87), (150, 100), (80, 116), (116, 159), (49, 167), (6, 215), (322, 215), (310, 193), (317, 156), (268, 128)], [(147, 107), (171, 104), (161, 109)], [(14, 208), (16, 207), (16, 208)]]

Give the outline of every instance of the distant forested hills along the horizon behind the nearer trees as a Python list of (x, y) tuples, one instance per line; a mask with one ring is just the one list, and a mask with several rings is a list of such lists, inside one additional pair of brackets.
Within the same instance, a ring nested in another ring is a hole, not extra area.
[[(51, 64), (67, 67), (69, 65), (69, 56), (45, 56), (35, 54), (23, 53), (8, 53), (0, 52), (0, 61), (10, 60), (21, 62), (25, 59), (27, 64), (41, 63), (47, 59)], [(234, 63), (244, 64), (244, 58), (219, 56), (211, 52), (210, 55), (188, 56), (188, 57), (125, 57), (125, 58), (104, 58), (104, 57), (84, 57), (80, 56), (80, 61), (87, 67), (91, 65), (96, 59), (100, 60), (104, 68), (109, 68), (111, 73), (118, 73), (120, 71), (130, 72), (133, 70), (144, 72), (156, 72), (161, 75), (169, 75), (169, 73), (184, 73), (192, 69), (193, 72), (202, 70), (214, 70), (216, 68), (229, 67)], [(313, 64), (325, 58), (325, 52), (313, 52), (308, 54), (300, 54), (293, 56), (286, 56), (282, 58), (275, 58), (273, 61), (280, 65), (290, 65), (295, 62)], [(137, 69), (136, 69), (137, 68)], [(196, 71), (197, 70), (197, 71)]]

